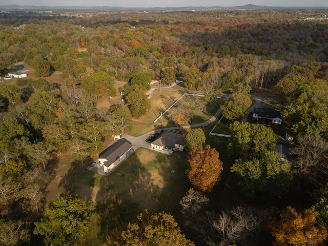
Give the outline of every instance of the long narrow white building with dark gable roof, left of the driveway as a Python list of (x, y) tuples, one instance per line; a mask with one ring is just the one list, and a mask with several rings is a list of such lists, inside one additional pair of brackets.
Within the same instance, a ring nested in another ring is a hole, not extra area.
[(99, 154), (96, 160), (109, 173), (133, 153), (133, 146), (127, 141), (117, 141)]

